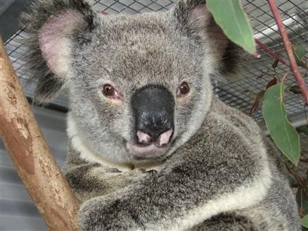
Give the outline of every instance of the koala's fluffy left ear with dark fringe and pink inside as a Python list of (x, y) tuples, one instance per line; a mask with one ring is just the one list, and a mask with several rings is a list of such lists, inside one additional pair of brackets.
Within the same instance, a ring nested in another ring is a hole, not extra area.
[(21, 16), (29, 37), (25, 57), (29, 75), (37, 80), (36, 103), (48, 103), (66, 82), (70, 50), (78, 33), (89, 33), (96, 13), (82, 0), (37, 0)]

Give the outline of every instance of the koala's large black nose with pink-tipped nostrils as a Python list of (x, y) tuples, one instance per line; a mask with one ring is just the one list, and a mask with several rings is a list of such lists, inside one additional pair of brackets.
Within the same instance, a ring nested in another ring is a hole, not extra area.
[(133, 94), (131, 105), (136, 120), (134, 132), (137, 143), (168, 144), (175, 126), (172, 94), (165, 87), (148, 85)]

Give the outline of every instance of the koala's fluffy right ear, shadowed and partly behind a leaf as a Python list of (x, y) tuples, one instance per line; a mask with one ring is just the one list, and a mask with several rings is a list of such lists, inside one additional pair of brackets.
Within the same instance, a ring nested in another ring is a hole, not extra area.
[(205, 54), (212, 59), (210, 65), (216, 79), (238, 79), (246, 53), (224, 35), (207, 10), (205, 0), (178, 0), (173, 15), (177, 29), (203, 43)]

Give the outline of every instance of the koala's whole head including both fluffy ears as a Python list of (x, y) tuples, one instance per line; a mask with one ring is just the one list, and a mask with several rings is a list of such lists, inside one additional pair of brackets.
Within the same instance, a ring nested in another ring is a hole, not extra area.
[(112, 161), (163, 160), (200, 128), (211, 75), (236, 70), (238, 46), (205, 1), (163, 13), (103, 16), (81, 0), (40, 0), (23, 15), (35, 100), (66, 87), (79, 135)]

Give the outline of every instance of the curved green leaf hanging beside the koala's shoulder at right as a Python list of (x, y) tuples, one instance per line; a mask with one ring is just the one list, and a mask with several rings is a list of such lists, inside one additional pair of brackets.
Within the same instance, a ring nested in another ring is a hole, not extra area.
[(298, 163), (300, 157), (300, 141), (295, 128), (287, 120), (283, 97), (283, 83), (273, 85), (264, 94), (262, 112), (270, 136), (285, 157), (292, 163)]

